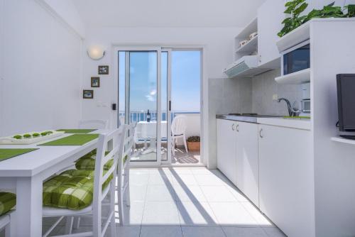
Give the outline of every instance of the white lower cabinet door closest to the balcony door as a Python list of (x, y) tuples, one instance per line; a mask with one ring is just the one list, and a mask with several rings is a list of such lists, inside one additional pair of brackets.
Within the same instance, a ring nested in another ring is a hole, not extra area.
[(217, 167), (236, 183), (236, 122), (217, 119)]

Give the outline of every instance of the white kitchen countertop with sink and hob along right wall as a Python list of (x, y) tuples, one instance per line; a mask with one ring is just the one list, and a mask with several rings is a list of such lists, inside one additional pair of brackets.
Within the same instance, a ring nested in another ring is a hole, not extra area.
[(281, 126), (285, 128), (297, 128), (303, 130), (311, 130), (310, 118), (283, 118), (283, 116), (275, 115), (259, 115), (259, 114), (217, 114), (216, 118), (241, 121), (247, 123), (259, 123), (272, 126)]

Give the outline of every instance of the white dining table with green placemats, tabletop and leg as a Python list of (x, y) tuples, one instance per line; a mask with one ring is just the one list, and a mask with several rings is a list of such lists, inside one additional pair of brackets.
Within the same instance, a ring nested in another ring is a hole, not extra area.
[[(92, 131), (103, 134), (108, 132), (100, 129)], [(70, 135), (63, 134), (50, 140)], [(0, 145), (0, 148), (39, 148), (0, 162), (0, 189), (16, 190), (16, 236), (42, 236), (43, 181), (97, 148), (97, 141), (96, 138), (84, 145)]]

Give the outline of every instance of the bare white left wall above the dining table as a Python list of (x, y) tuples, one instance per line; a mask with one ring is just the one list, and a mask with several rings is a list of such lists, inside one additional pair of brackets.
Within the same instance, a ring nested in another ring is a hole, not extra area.
[(76, 126), (82, 40), (41, 1), (2, 4), (0, 135)]

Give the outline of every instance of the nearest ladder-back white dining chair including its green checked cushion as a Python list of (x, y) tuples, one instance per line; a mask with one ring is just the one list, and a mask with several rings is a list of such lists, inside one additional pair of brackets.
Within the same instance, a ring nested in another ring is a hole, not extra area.
[[(119, 160), (122, 159), (120, 155), (123, 153), (123, 136), (126, 134), (126, 129), (127, 126), (121, 126), (99, 136), (94, 170), (67, 170), (43, 184), (43, 217), (59, 217), (43, 236), (48, 236), (64, 216), (67, 216), (65, 236), (101, 237), (105, 235), (109, 225), (111, 236), (116, 236), (114, 216), (116, 168)], [(105, 153), (109, 141), (112, 149), (109, 153)], [(105, 170), (108, 162), (111, 162), (111, 166)], [(107, 218), (103, 218), (102, 204), (105, 203), (106, 197), (109, 197), (109, 214)], [(73, 234), (74, 217), (89, 215), (92, 216), (93, 230)], [(103, 228), (102, 220), (105, 220)]]

